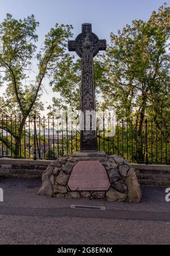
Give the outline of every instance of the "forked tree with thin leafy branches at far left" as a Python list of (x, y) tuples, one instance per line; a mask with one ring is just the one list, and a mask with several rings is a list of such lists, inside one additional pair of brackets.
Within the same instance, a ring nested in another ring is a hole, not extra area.
[[(15, 156), (19, 155), (19, 144), (27, 117), (42, 109), (40, 96), (43, 82), (45, 78), (52, 79), (53, 69), (65, 52), (66, 41), (71, 36), (72, 26), (56, 24), (45, 35), (44, 45), (37, 53), (35, 43), (38, 40), (38, 26), (39, 22), (33, 15), (16, 20), (11, 14), (7, 14), (0, 24), (1, 85), (7, 85), (5, 97), (1, 98), (4, 106), (1, 112), (3, 114), (5, 110), (8, 114), (17, 113), (21, 117), (17, 134), (10, 130), (10, 126), (3, 126), (15, 139)], [(37, 63), (35, 79), (32, 79), (33, 60)], [(1, 140), (9, 147), (2, 137)]]

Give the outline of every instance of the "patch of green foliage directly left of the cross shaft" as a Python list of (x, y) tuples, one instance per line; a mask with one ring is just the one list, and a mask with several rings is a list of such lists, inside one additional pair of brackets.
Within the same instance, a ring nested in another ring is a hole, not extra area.
[(57, 109), (65, 109), (70, 105), (73, 109), (80, 109), (81, 63), (74, 61), (74, 56), (65, 54), (54, 70), (54, 80), (50, 83), (53, 92), (59, 92), (60, 98), (53, 98), (53, 106), (49, 106), (50, 114), (57, 113)]

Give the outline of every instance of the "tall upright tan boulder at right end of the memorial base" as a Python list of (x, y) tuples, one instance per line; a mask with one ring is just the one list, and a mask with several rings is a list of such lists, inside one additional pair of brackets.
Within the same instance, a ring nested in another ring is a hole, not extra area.
[(128, 188), (128, 201), (138, 203), (142, 199), (141, 187), (139, 185), (137, 175), (134, 168), (130, 168), (125, 179), (126, 187)]

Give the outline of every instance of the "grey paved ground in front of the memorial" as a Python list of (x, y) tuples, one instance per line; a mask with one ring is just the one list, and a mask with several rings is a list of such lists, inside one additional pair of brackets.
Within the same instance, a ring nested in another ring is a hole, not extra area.
[[(39, 180), (2, 179), (0, 244), (169, 244), (164, 188), (142, 187), (139, 204), (37, 196)], [(71, 204), (106, 210), (70, 209)]]

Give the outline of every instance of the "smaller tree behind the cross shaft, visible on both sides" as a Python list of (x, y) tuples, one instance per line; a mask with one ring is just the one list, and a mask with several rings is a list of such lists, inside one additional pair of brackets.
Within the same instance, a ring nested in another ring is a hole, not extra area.
[[(48, 106), (50, 115), (56, 115), (58, 109), (65, 109), (68, 105), (73, 108), (73, 111), (80, 110), (81, 69), (82, 63), (80, 59), (75, 59), (70, 53), (62, 56), (61, 61), (54, 70), (54, 81), (50, 84), (53, 92), (59, 93), (58, 97), (53, 97), (53, 105)], [(100, 95), (99, 85), (104, 72), (103, 63), (99, 58), (94, 60), (94, 70), (96, 109), (99, 109), (97, 96)]]

